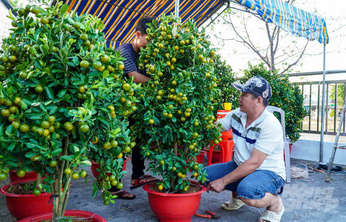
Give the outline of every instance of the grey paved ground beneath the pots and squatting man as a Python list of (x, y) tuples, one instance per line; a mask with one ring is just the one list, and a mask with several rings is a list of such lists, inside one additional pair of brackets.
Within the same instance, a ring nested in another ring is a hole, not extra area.
[[(306, 164), (308, 161), (291, 159), (291, 165), (296, 163)], [(204, 164), (206, 164), (206, 160)], [(309, 162), (314, 165), (314, 162)], [(123, 178), (124, 189), (130, 191), (130, 178), (132, 172), (131, 161), (127, 163), (127, 171)], [(148, 164), (148, 163), (147, 163)], [(85, 168), (91, 178), (90, 167)], [(313, 181), (292, 180), (284, 185), (281, 195), (285, 212), (281, 221), (346, 221), (346, 175), (332, 175), (332, 180), (325, 182), (325, 174), (316, 173), (310, 175)], [(3, 186), (9, 183), (8, 179), (1, 181)], [(115, 199), (115, 204), (103, 205), (100, 193), (94, 199), (92, 196), (92, 180), (84, 183), (84, 179), (72, 181), (71, 195), (68, 202), (68, 209), (78, 209), (90, 211), (103, 216), (109, 222), (130, 222), (130, 221), (153, 221), (158, 222), (155, 214), (149, 206), (147, 192), (142, 188), (132, 191), (137, 198), (134, 200)], [(215, 212), (221, 216), (217, 221), (258, 221), (263, 209), (248, 207), (244, 205), (236, 211), (228, 211), (221, 208), (221, 204), (229, 201), (232, 193), (223, 191), (219, 194), (210, 192), (203, 193), (200, 207), (197, 213), (204, 213), (206, 210)], [(0, 196), (0, 222), (16, 221), (6, 207), (4, 196)], [(191, 221), (208, 221), (207, 218), (193, 216)]]

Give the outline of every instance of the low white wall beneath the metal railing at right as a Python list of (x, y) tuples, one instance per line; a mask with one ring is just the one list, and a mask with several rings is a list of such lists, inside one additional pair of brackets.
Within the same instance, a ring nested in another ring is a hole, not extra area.
[[(341, 145), (346, 144), (338, 144), (338, 146)], [(324, 142), (323, 162), (329, 162), (329, 159), (332, 156), (333, 146), (333, 142)], [(295, 159), (320, 161), (320, 141), (298, 140), (293, 144), (290, 157)], [(346, 150), (336, 150), (334, 164), (346, 165)]]

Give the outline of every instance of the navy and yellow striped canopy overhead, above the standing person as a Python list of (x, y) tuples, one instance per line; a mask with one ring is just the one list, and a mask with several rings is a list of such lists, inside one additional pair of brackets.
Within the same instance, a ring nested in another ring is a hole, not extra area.
[[(108, 47), (117, 48), (134, 40), (137, 21), (144, 15), (160, 17), (175, 12), (175, 0), (65, 0), (68, 11), (92, 14), (103, 20)], [(201, 25), (224, 4), (224, 0), (181, 0), (179, 17), (193, 18)]]

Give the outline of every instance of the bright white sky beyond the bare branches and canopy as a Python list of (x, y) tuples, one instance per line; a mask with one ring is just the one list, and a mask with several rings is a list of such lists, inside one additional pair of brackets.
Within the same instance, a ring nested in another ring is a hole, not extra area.
[[(230, 6), (239, 8), (239, 6), (234, 3), (231, 3)], [(330, 37), (330, 42), (326, 46), (326, 70), (346, 70), (346, 26), (343, 26), (346, 24), (346, 14), (344, 12), (346, 2), (344, 0), (297, 0), (294, 6), (325, 18), (327, 24), (327, 32), (329, 33)], [(237, 13), (247, 14), (246, 12), (239, 11)], [(232, 20), (235, 24), (237, 22), (239, 22), (239, 24), (243, 22), (243, 20), (237, 18), (236, 15), (233, 15)], [(256, 18), (249, 19), (247, 22), (249, 36), (258, 45), (268, 44), (267, 33), (265, 30), (260, 28), (264, 27), (263, 23), (263, 21), (260, 21)], [(206, 22), (204, 26), (206, 26), (207, 24), (209, 24), (209, 21)], [(217, 31), (212, 31), (209, 26), (206, 31), (210, 36), (213, 36), (213, 34), (217, 34), (224, 39), (228, 39), (234, 36), (234, 31), (226, 30), (225, 26), (216, 26), (214, 30)], [(284, 32), (283, 30), (281, 31)], [(219, 43), (219, 40), (213, 37), (210, 39), (210, 41), (214, 46), (222, 47), (222, 49), (219, 50), (219, 53), (222, 55), (223, 59), (226, 60), (226, 62), (230, 66), (232, 66), (234, 72), (236, 72), (237, 77), (242, 76), (242, 70), (247, 68), (248, 61), (250, 61), (253, 65), (259, 63), (258, 56), (253, 51), (250, 51), (245, 46), (243, 46), (242, 43), (238, 43), (236, 41), (225, 41), (225, 44), (222, 46), (221, 43)], [(281, 44), (279, 44), (279, 47), (286, 47), (287, 45), (292, 46), (293, 41), (296, 41), (299, 47), (305, 46), (307, 42), (307, 40), (303, 37), (297, 38), (292, 34), (287, 34), (287, 37), (282, 40), (280, 39), (279, 43)], [(308, 43), (305, 53), (309, 54), (309, 56), (304, 56), (301, 60), (302, 65), (294, 66), (293, 72), (322, 71), (323, 44), (320, 44), (318, 41), (311, 41)], [(292, 81), (302, 81), (297, 77), (290, 79)], [(322, 80), (322, 75), (308, 78), (305, 77), (304, 80), (306, 79), (314, 81)], [(326, 80), (334, 79), (346, 79), (346, 73), (326, 76)]]

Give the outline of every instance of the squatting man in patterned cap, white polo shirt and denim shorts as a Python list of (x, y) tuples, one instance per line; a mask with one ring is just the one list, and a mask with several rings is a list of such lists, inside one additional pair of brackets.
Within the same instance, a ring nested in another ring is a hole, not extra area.
[[(222, 208), (237, 210), (244, 204), (266, 211), (260, 222), (279, 222), (284, 212), (281, 198), (286, 179), (283, 161), (282, 127), (267, 110), (272, 96), (268, 81), (254, 76), (245, 84), (232, 84), (241, 91), (239, 108), (220, 120), (233, 130), (234, 161), (207, 166), (207, 192), (232, 191), (232, 199)], [(290, 170), (290, 169), (289, 169)]]

